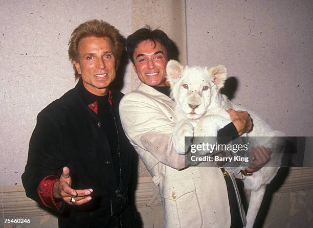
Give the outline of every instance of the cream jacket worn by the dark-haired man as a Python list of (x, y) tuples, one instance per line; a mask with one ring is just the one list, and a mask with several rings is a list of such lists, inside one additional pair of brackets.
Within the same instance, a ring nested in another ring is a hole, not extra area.
[(164, 226), (230, 227), (227, 186), (220, 169), (184, 169), (184, 155), (173, 149), (174, 102), (141, 83), (123, 97), (119, 108), (130, 143), (159, 186)]

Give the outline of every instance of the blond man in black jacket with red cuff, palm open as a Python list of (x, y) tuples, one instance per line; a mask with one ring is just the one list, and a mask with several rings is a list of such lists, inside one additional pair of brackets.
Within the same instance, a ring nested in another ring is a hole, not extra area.
[(136, 227), (128, 202), (133, 148), (119, 117), (123, 96), (110, 89), (123, 45), (117, 29), (86, 21), (72, 33), (75, 88), (37, 117), (23, 185), (59, 212), (59, 227)]

